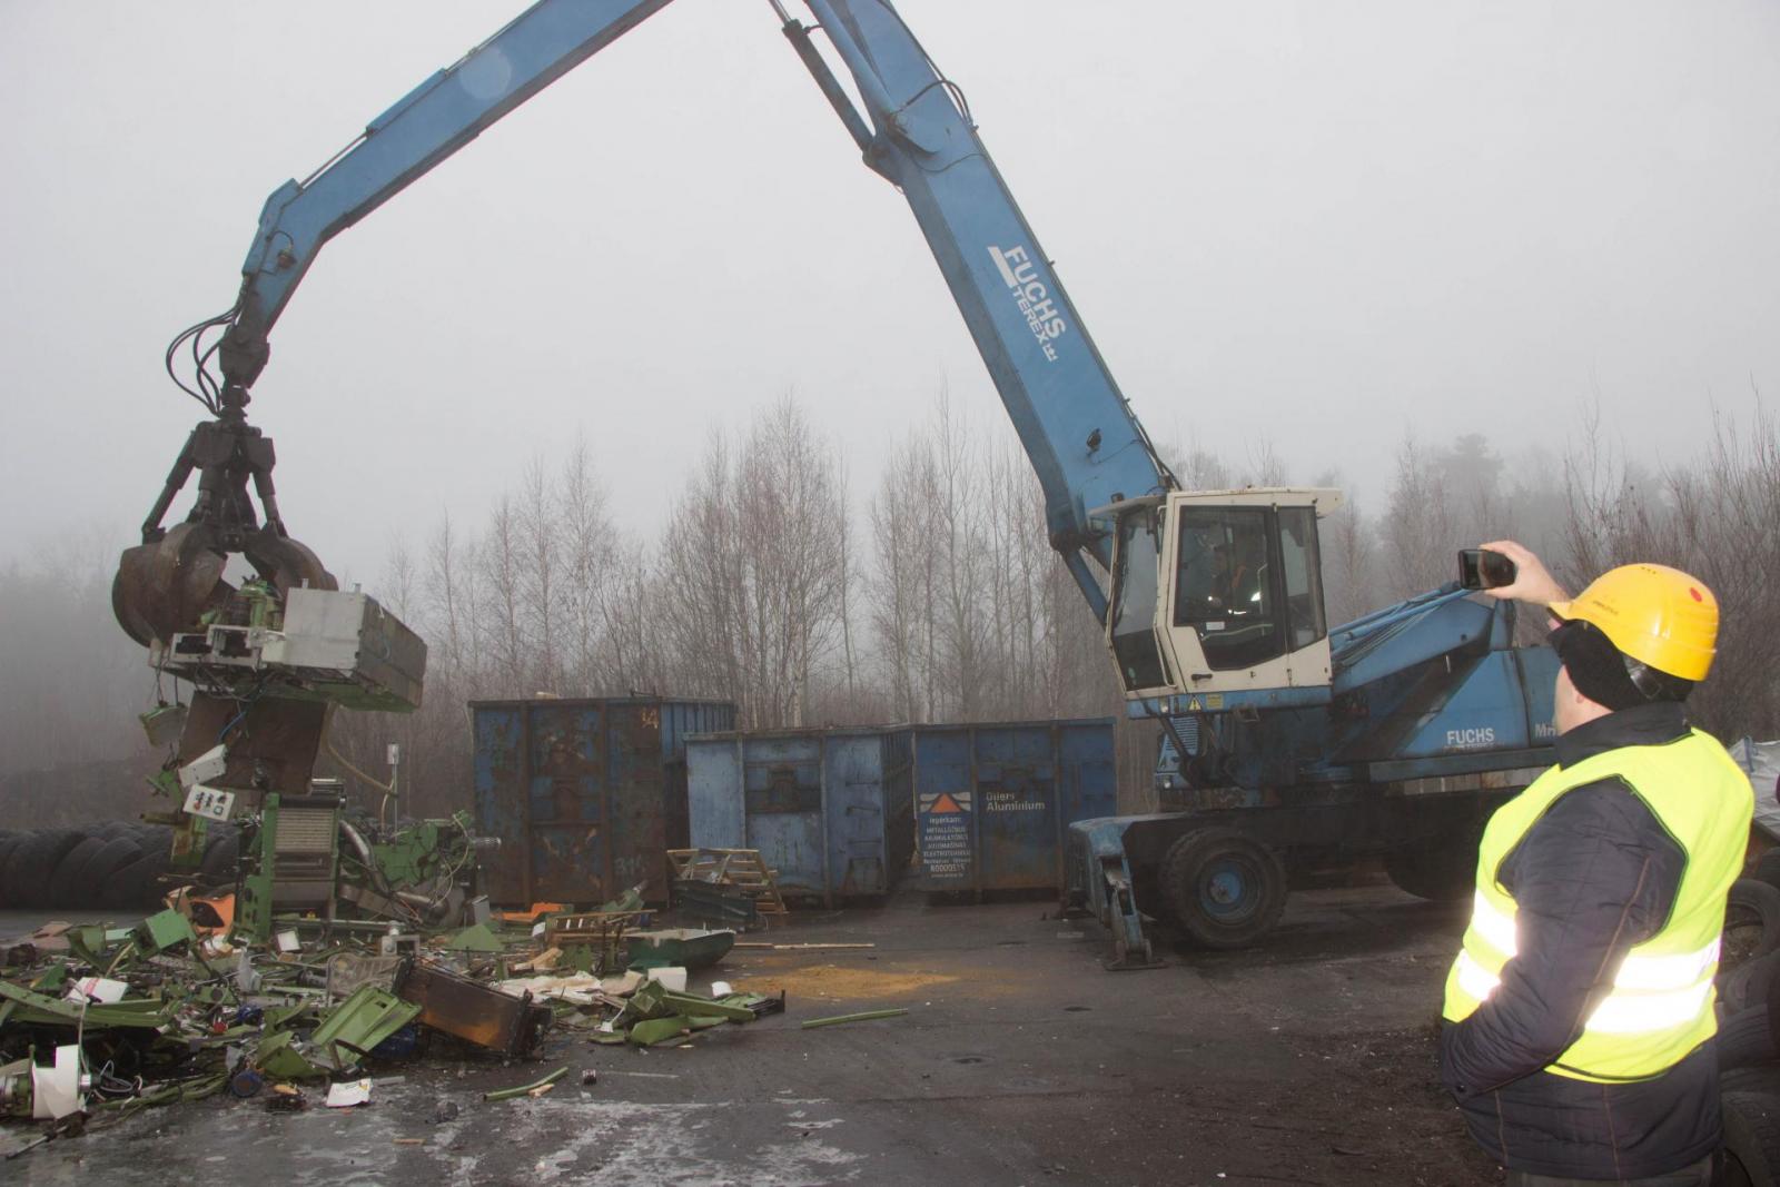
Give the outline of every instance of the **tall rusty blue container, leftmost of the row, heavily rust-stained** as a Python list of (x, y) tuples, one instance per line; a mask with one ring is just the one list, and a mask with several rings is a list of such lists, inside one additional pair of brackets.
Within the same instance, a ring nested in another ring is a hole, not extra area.
[(685, 739), (730, 730), (726, 701), (472, 701), (477, 831), (500, 904), (593, 906), (627, 886), (666, 902), (687, 844)]

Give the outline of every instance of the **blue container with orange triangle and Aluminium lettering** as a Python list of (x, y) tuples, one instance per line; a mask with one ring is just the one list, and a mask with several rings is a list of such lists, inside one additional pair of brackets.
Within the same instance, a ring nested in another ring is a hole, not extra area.
[(915, 845), (929, 892), (1061, 890), (1070, 824), (1118, 812), (1111, 717), (913, 733)]

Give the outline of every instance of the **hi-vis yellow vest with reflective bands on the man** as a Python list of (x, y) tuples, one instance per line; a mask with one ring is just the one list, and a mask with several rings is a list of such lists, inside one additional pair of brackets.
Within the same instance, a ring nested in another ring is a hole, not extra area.
[(1718, 1030), (1712, 975), (1725, 892), (1743, 868), (1755, 801), (1736, 760), (1698, 730), (1663, 746), (1622, 746), (1552, 767), (1497, 808), (1477, 849), (1477, 897), (1465, 947), (1447, 973), (1444, 1009), (1449, 1021), (1468, 1018), (1515, 956), (1515, 899), (1495, 881), (1502, 861), (1559, 795), (1611, 776), (1632, 787), (1687, 863), (1663, 931), (1625, 954), (1582, 1038), (1545, 1068), (1602, 1084), (1661, 1075)]

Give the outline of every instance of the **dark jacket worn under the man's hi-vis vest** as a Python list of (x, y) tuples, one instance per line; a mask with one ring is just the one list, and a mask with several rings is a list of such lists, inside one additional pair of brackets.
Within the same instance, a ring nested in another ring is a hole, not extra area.
[[(1679, 705), (1620, 710), (1561, 735), (1558, 765), (1686, 731)], [(1632, 1084), (1543, 1071), (1582, 1034), (1625, 952), (1663, 929), (1684, 867), (1680, 845), (1618, 778), (1561, 795), (1502, 861), (1499, 879), (1517, 906), (1517, 956), (1495, 993), (1440, 1036), (1440, 1078), (1472, 1137), (1502, 1166), (1641, 1178), (1718, 1148), (1712, 1039)]]

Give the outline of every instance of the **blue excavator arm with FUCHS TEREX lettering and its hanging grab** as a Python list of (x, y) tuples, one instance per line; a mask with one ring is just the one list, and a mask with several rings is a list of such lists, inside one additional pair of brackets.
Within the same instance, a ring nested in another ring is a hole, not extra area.
[[(934, 69), (888, 0), (808, 0), (813, 27), (792, 20), (780, 0), (769, 4), (865, 162), (908, 198), (1038, 472), (1050, 543), (1104, 619), (1107, 602), (1095, 568), (1111, 568), (1111, 537), (1091, 511), (1162, 493), (1173, 479), (995, 171), (963, 93)], [(539, 0), (372, 119), (306, 180), (272, 192), (235, 304), (187, 329), (167, 351), (171, 372), (180, 349), (190, 345), (196, 386), (174, 381), (215, 420), (194, 431), (142, 527), (142, 546), (125, 555), (116, 602), (132, 635), (166, 639), (214, 605), (217, 557), (242, 552), (247, 541), (258, 541), (258, 555), (249, 552), (249, 559), (279, 589), (331, 582), (285, 534), (272, 500), (272, 443), (244, 413), (279, 313), (329, 238), (666, 5)], [(863, 112), (819, 53), (817, 30), (851, 77)], [(221, 340), (206, 347), (205, 335), (215, 329)], [(221, 379), (210, 374), (212, 359)], [(201, 497), (189, 530), (167, 534), (160, 520), (194, 470)], [(249, 479), (265, 505), (263, 527), (247, 500)], [(212, 488), (228, 498), (205, 497)], [(183, 577), (176, 593), (164, 587), (166, 573)]]

